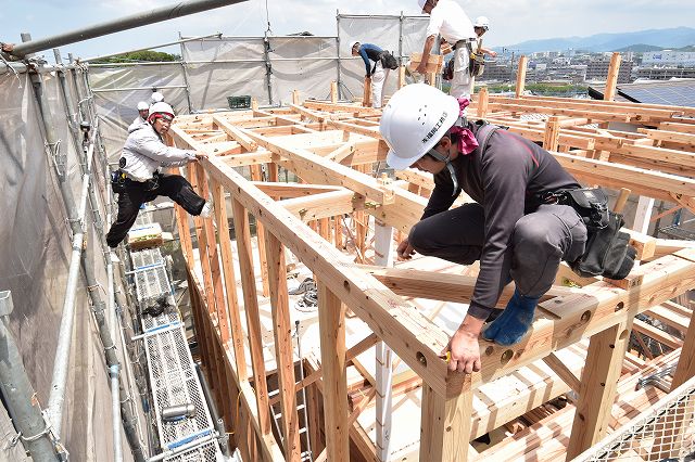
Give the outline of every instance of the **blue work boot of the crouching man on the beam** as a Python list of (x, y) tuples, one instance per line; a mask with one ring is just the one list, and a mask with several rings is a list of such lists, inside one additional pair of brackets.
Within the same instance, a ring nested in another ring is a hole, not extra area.
[(533, 312), (540, 299), (527, 297), (515, 290), (502, 315), (483, 328), (482, 337), (502, 346), (518, 344), (533, 322)]

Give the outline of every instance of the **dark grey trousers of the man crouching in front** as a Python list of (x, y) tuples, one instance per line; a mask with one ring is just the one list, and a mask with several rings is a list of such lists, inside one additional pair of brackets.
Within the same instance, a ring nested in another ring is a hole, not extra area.
[[(465, 204), (424, 219), (413, 227), (409, 244), (421, 255), (459, 265), (480, 259), (484, 214), (479, 204)], [(584, 253), (586, 227), (567, 205), (541, 205), (517, 221), (502, 265), (502, 281), (514, 280), (522, 295), (545, 294), (561, 260)]]

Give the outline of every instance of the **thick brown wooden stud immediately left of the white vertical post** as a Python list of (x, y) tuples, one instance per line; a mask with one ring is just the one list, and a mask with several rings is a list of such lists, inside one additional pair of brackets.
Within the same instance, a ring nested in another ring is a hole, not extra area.
[(345, 306), (318, 282), (318, 323), (324, 371), (326, 451), (331, 462), (350, 460), (348, 374), (345, 371)]

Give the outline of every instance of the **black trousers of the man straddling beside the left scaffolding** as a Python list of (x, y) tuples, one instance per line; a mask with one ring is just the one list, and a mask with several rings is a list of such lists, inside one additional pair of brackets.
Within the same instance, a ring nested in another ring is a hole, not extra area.
[(168, 196), (191, 215), (200, 215), (205, 205), (205, 200), (195, 194), (191, 183), (180, 175), (160, 175), (159, 184), (152, 190), (147, 189), (147, 183), (128, 179), (126, 191), (118, 193), (118, 216), (106, 234), (110, 247), (117, 246), (126, 236), (138, 218), (140, 206), (159, 195)]

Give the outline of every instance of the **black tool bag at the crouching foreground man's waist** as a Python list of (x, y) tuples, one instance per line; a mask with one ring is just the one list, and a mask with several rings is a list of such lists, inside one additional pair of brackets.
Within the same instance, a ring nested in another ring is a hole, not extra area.
[(571, 206), (586, 224), (584, 254), (569, 264), (577, 274), (624, 279), (630, 273), (637, 252), (630, 245), (630, 234), (620, 231), (622, 215), (608, 210), (608, 197), (601, 188), (558, 191), (544, 202)]

